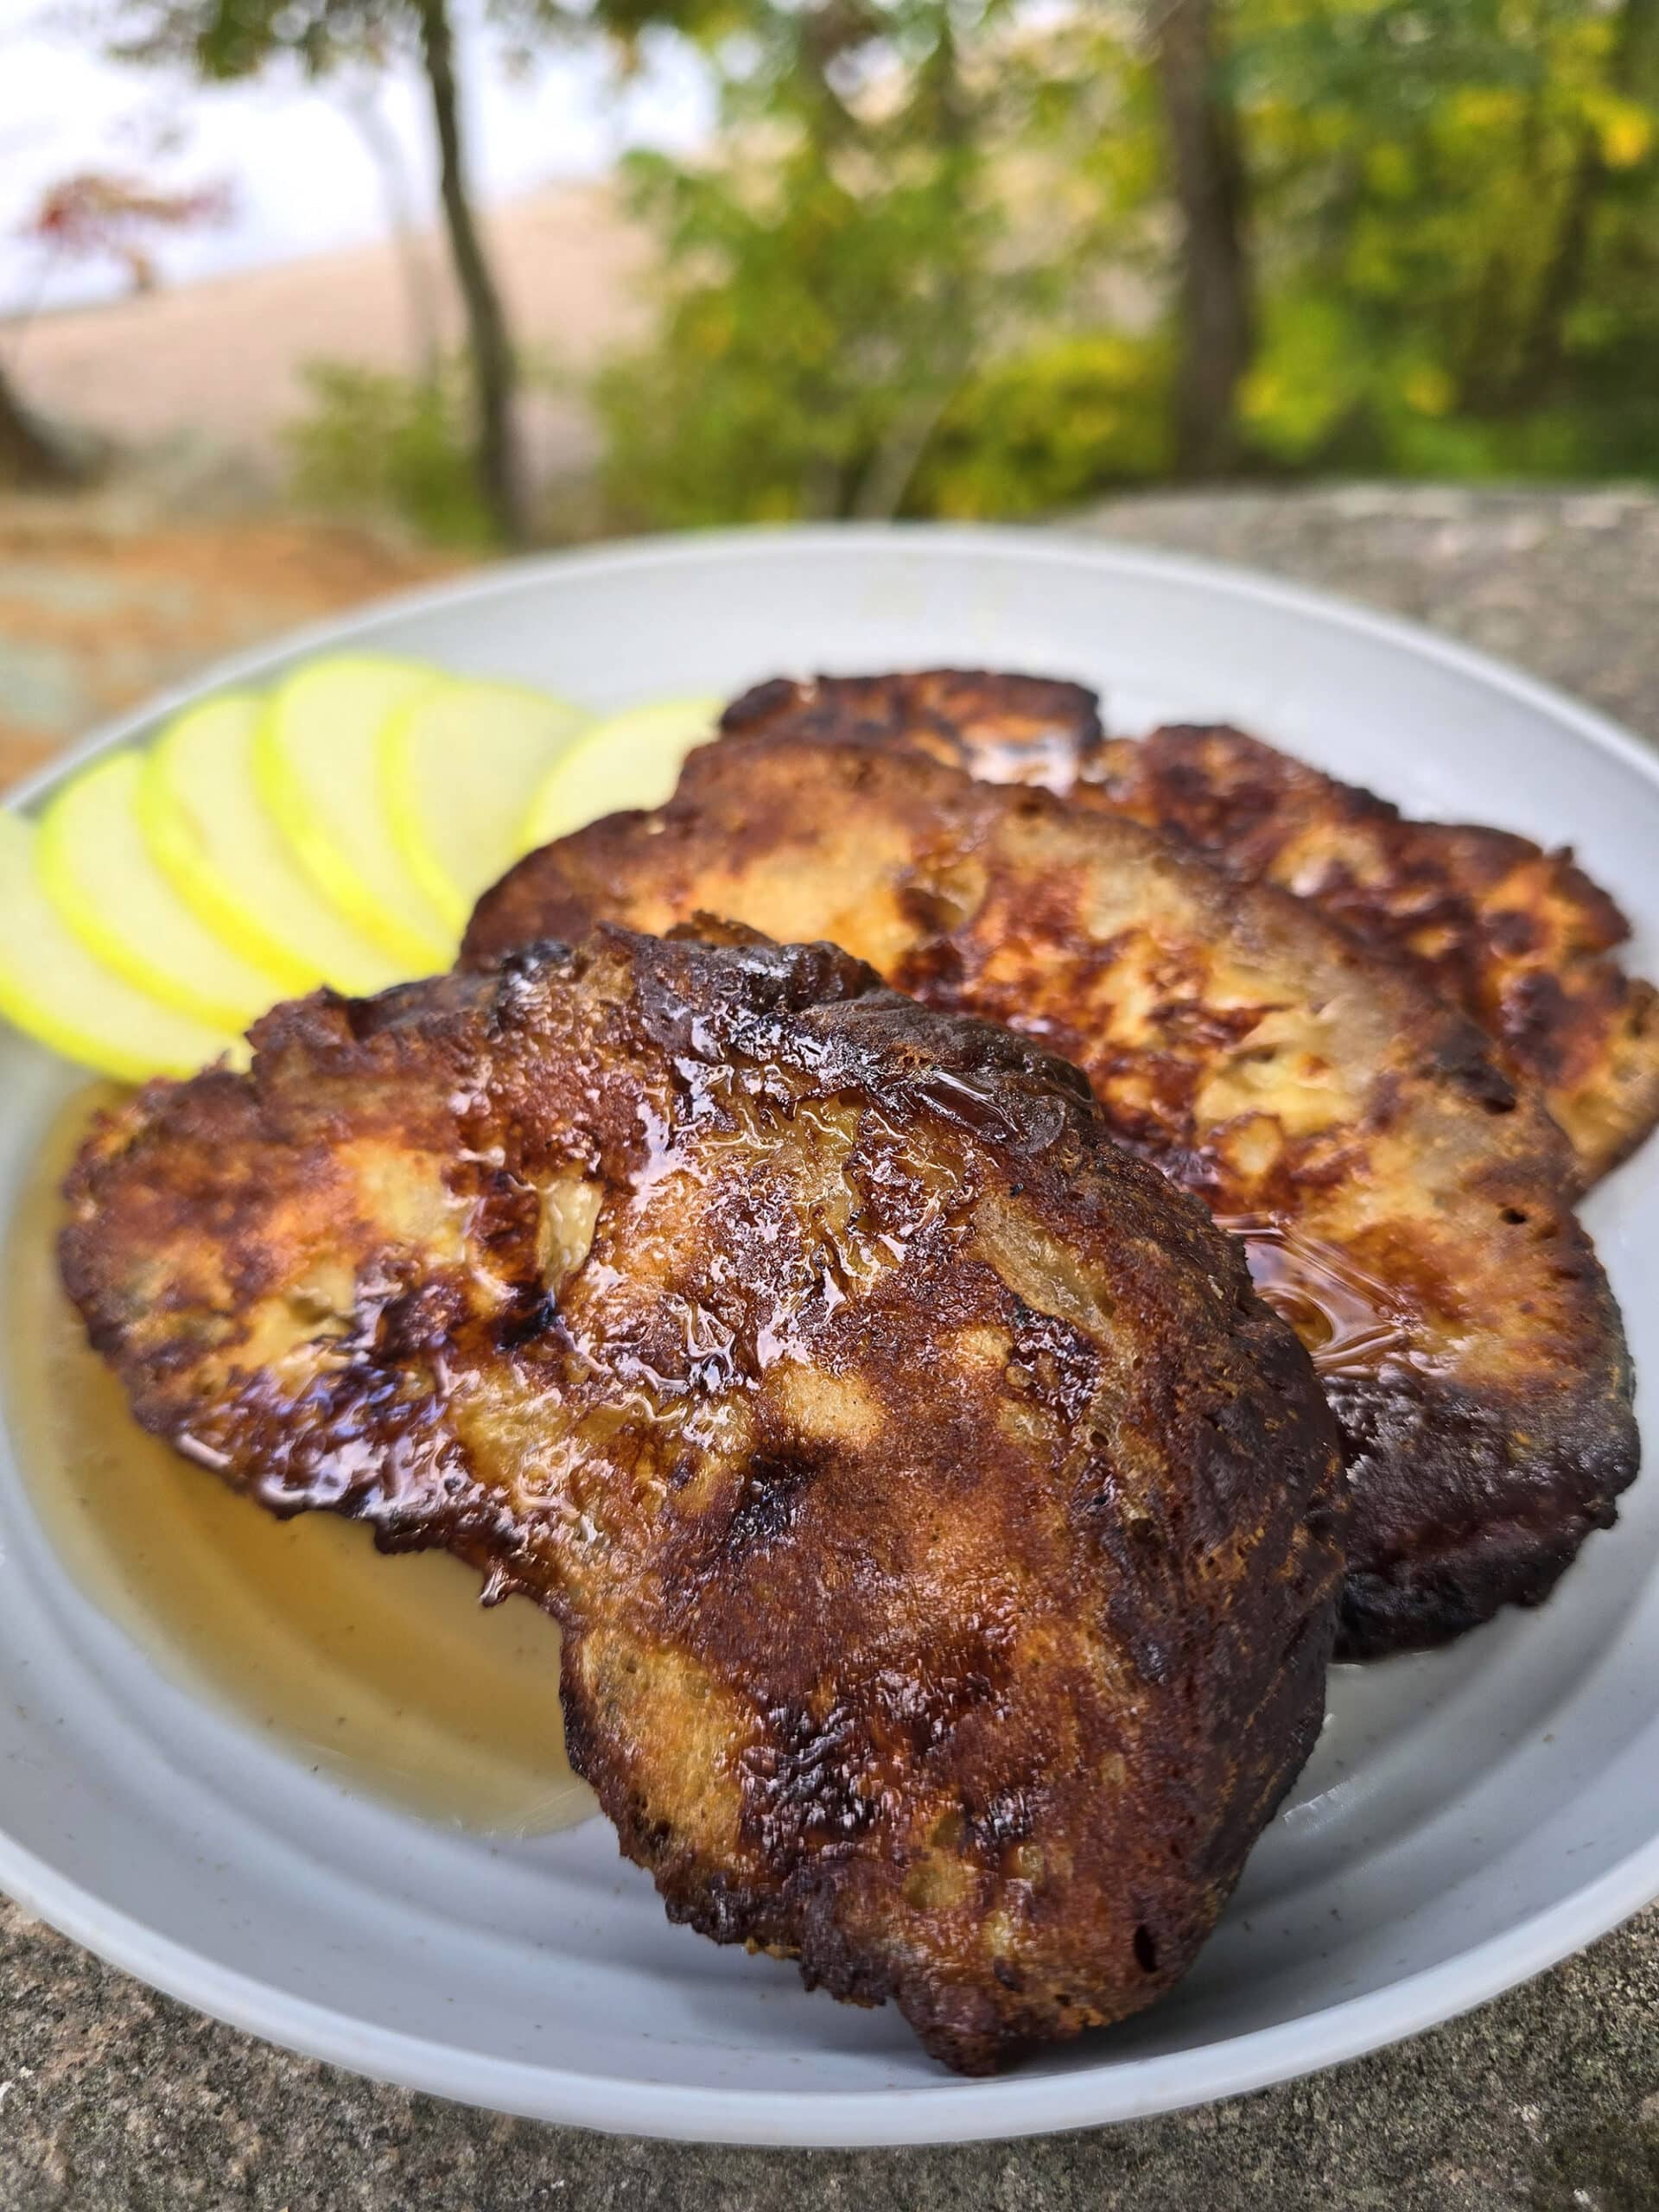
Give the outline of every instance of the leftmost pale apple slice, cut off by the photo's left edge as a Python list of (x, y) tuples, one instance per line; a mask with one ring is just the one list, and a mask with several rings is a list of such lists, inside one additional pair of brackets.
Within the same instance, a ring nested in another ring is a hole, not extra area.
[(0, 807), (0, 1013), (38, 1044), (139, 1084), (195, 1075), (237, 1040), (164, 1006), (86, 951), (40, 887), (38, 830)]

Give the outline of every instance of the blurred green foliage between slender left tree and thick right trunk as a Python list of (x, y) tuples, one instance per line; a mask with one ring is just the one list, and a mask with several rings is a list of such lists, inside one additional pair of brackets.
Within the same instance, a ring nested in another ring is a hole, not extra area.
[[(653, 11), (602, 13), (619, 29)], [(975, 511), (1006, 484), (1031, 436), (1009, 363), (1093, 319), (1104, 210), (1146, 184), (1146, 164), (1102, 155), (1133, 15), (1026, 15), (1015, 0), (657, 11), (701, 35), (723, 128), (701, 159), (628, 168), (664, 265), (653, 341), (597, 385), (622, 520)], [(1088, 358), (1068, 358), (1071, 389)], [(1033, 376), (1055, 394), (1053, 365)], [(984, 414), (998, 460), (975, 471)], [(1077, 440), (1095, 453), (1099, 420)], [(1075, 482), (1064, 422), (1040, 442), (1044, 478)], [(947, 445), (949, 493), (931, 458)]]

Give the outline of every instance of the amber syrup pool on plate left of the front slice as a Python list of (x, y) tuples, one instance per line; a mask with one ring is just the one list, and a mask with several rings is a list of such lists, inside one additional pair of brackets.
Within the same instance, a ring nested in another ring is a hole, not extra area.
[(427, 1818), (568, 1827), (593, 1794), (564, 1756), (560, 1632), (524, 1597), (478, 1604), (445, 1553), (376, 1553), (334, 1513), (279, 1522), (146, 1436), (60, 1283), (58, 1186), (86, 1119), (42, 1148), (7, 1256), (13, 1447), (80, 1588), (175, 1679), (290, 1756)]

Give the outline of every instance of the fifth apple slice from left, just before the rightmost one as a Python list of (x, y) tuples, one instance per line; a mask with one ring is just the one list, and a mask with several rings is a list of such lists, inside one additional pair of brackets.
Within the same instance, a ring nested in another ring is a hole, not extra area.
[(380, 732), (398, 854), (451, 931), (520, 856), (518, 830), (582, 708), (522, 684), (456, 679), (418, 692)]

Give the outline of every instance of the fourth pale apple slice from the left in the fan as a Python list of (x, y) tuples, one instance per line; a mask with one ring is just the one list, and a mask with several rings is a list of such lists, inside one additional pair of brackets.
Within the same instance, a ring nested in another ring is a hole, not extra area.
[(380, 655), (312, 661), (279, 684), (254, 737), (259, 796), (312, 885), (405, 973), (449, 967), (456, 931), (403, 865), (380, 785), (380, 730), (440, 684)]

